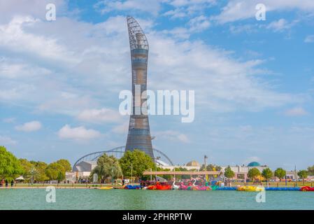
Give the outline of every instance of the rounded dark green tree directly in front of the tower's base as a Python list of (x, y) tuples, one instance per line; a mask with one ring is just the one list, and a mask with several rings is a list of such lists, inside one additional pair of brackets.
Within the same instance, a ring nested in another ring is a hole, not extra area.
[(145, 170), (155, 170), (155, 162), (143, 151), (126, 151), (119, 162), (124, 176), (131, 176), (131, 167), (136, 177), (142, 177)]

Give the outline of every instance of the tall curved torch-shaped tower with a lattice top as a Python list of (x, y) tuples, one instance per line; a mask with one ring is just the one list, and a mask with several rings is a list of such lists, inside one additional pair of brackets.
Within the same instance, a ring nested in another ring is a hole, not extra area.
[(141, 109), (147, 99), (136, 97), (135, 94), (140, 92), (142, 95), (147, 90), (148, 41), (138, 22), (130, 16), (127, 17), (127, 28), (131, 50), (133, 108), (125, 150), (138, 149), (154, 158), (148, 115), (143, 114)]

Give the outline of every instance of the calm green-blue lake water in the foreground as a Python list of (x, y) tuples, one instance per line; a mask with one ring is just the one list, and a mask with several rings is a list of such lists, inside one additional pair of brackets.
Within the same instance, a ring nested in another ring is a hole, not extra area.
[(46, 202), (45, 189), (0, 189), (0, 209), (314, 209), (314, 192), (56, 189)]

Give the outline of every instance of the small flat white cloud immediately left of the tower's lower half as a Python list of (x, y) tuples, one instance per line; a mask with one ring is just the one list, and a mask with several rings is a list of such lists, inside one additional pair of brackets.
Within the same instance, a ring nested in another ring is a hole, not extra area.
[(117, 123), (122, 120), (118, 111), (106, 108), (88, 109), (80, 112), (76, 118), (90, 123)]

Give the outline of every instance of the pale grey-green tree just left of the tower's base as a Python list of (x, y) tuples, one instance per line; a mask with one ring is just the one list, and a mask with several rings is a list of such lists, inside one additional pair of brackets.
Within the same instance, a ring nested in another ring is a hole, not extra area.
[(101, 157), (98, 158), (97, 166), (92, 170), (90, 177), (92, 178), (94, 174), (99, 176), (101, 182), (104, 182), (108, 177), (117, 179), (117, 177), (122, 176), (119, 160), (113, 155), (101, 155)]

